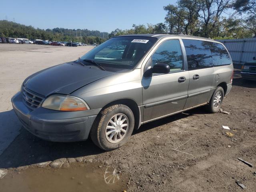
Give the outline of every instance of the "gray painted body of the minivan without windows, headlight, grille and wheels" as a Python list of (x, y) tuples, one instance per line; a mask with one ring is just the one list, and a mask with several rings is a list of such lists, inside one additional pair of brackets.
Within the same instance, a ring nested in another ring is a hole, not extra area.
[[(88, 138), (94, 119), (102, 108), (117, 100), (132, 100), (139, 111), (140, 124), (170, 116), (190, 108), (207, 104), (215, 88), (224, 84), (230, 92), (233, 65), (188, 71), (186, 51), (182, 39), (205, 40), (192, 36), (144, 34), (158, 38), (134, 69), (124, 72), (103, 71), (95, 66), (80, 66), (73, 62), (48, 68), (24, 81), (33, 92), (47, 97), (65, 94), (82, 98), (90, 110), (60, 112), (39, 107), (29, 109), (23, 104), (21, 94), (12, 98), (13, 108), (23, 126), (36, 136), (52, 141), (76, 141)], [(158, 46), (169, 39), (180, 40), (184, 68), (180, 72), (153, 74), (144, 77), (147, 62)], [(219, 43), (219, 42), (217, 42)], [(199, 75), (198, 80), (193, 76)], [(186, 81), (178, 82), (184, 77)]]

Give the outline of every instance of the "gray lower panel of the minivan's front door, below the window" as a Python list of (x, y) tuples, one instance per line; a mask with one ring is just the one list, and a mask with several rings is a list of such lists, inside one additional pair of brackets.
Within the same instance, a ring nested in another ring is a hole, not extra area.
[(142, 78), (143, 122), (184, 108), (188, 97), (189, 80), (178, 83), (181, 76), (189, 79), (187, 71)]

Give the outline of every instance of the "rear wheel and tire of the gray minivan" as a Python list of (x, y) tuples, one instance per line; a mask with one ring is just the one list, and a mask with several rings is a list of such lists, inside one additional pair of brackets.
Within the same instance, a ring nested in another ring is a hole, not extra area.
[[(220, 99), (220, 100), (219, 100)], [(208, 112), (216, 113), (220, 110), (224, 99), (224, 90), (222, 87), (217, 87), (214, 93), (212, 94), (212, 98), (209, 104), (206, 106)]]

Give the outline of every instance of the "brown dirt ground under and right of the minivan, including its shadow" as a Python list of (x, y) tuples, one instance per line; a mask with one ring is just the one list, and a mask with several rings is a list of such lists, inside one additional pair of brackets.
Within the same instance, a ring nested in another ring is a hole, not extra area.
[[(91, 140), (74, 143), (44, 141), (22, 128), (0, 156), (0, 168), (10, 168), (8, 174), (16, 175), (7, 174), (0, 180), (0, 186), (9, 180), (15, 183), (18, 172), (38, 171), (33, 166), (28, 170), (17, 170), (19, 166), (83, 157), (85, 162), (90, 159), (90, 163), (80, 162), (80, 166), (106, 168), (109, 164), (127, 176), (128, 181), (120, 179), (125, 182), (122, 190), (127, 191), (242, 191), (237, 180), (246, 187), (243, 191), (256, 191), (255, 98), (256, 82), (242, 80), (240, 71), (235, 70), (233, 88), (222, 106), (230, 114), (209, 114), (200, 107), (150, 122), (135, 131), (125, 146), (111, 152), (100, 150)], [(2, 112), (0, 118), (1, 115)], [(16, 119), (11, 116), (8, 120)], [(228, 126), (230, 130), (222, 126)], [(8, 129), (8, 124), (5, 127)], [(226, 132), (234, 136), (230, 137)], [(178, 150), (188, 154), (172, 150), (180, 145)], [(238, 157), (253, 164), (252, 168), (240, 162)], [(48, 167), (42, 169), (49, 170)], [(65, 169), (72, 172), (72, 166)], [(49, 174), (49, 179), (51, 177)]]

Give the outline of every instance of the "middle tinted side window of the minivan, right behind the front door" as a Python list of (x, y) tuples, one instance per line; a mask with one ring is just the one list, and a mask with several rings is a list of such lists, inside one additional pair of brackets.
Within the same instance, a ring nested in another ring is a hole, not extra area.
[(213, 66), (212, 54), (208, 42), (191, 39), (183, 39), (182, 41), (187, 54), (188, 70)]

